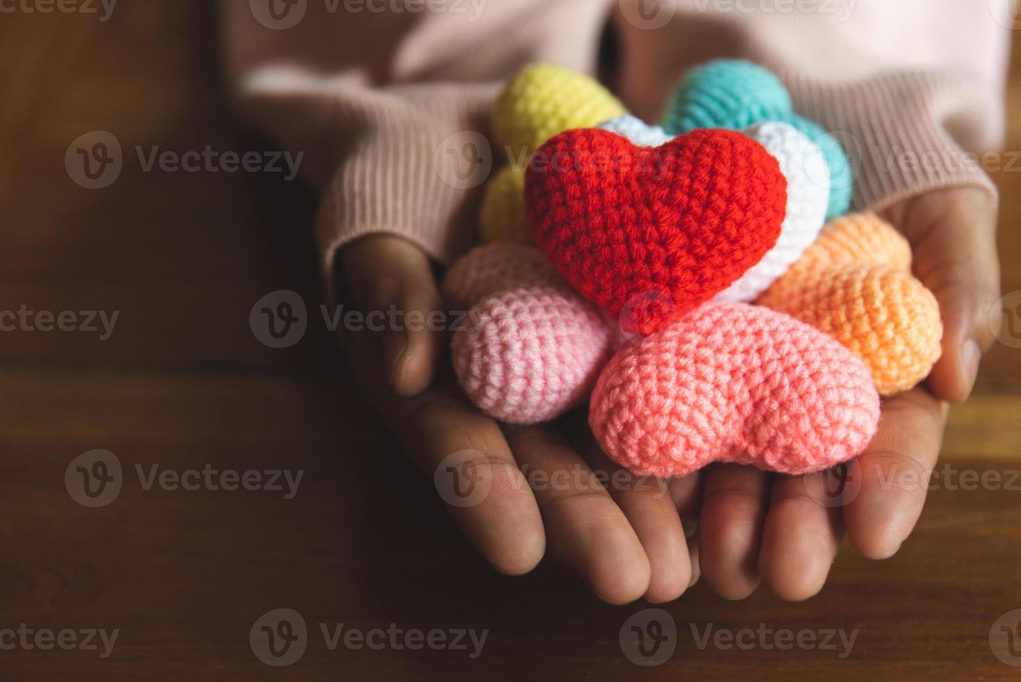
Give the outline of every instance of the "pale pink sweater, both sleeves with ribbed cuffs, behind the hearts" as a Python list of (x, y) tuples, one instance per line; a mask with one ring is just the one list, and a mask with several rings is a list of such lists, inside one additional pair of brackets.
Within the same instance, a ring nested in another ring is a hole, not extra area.
[[(370, 233), (448, 261), (476, 237), (479, 151), (501, 80), (530, 61), (593, 72), (606, 22), (618, 94), (655, 119), (684, 70), (743, 56), (856, 168), (855, 206), (994, 189), (967, 152), (999, 146), (1010, 0), (223, 0), (243, 110), (304, 151), (324, 267)], [(493, 150), (496, 163), (499, 150)], [(460, 159), (466, 160), (466, 159)], [(468, 159), (471, 160), (471, 159)]]

